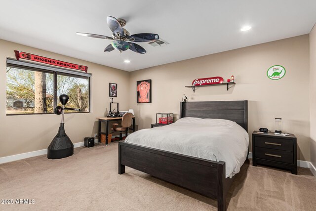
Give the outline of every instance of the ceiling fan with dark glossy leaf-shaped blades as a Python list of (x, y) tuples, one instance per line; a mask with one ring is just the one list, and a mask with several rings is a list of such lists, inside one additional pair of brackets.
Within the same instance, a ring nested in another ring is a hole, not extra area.
[(123, 28), (123, 26), (126, 25), (126, 21), (124, 19), (116, 19), (115, 17), (107, 16), (107, 23), (108, 23), (109, 28), (113, 32), (112, 37), (108, 37), (105, 35), (81, 33), (81, 32), (77, 32), (77, 35), (90, 37), (90, 38), (113, 40), (111, 44), (109, 44), (104, 49), (104, 52), (110, 52), (114, 49), (117, 49), (119, 52), (122, 52), (127, 49), (130, 49), (136, 53), (141, 53), (141, 54), (146, 53), (146, 50), (142, 46), (134, 42), (150, 42), (150, 41), (159, 39), (159, 35), (150, 34), (150, 33), (140, 33), (140, 34), (135, 34), (135, 35), (129, 35), (129, 32)]

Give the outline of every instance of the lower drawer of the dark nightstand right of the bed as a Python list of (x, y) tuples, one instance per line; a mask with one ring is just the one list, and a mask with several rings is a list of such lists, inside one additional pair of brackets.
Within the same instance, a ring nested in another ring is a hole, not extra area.
[(255, 158), (293, 164), (293, 152), (256, 147)]

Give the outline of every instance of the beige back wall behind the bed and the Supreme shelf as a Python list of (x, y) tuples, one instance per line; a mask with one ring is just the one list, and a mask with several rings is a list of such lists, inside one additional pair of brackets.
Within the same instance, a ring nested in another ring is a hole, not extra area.
[[(267, 77), (273, 65), (285, 67), (282, 79)], [(225, 86), (208, 86), (193, 93), (185, 87), (197, 78), (226, 80), (232, 74), (237, 84), (229, 91)], [(152, 79), (152, 103), (137, 104), (136, 81), (146, 79)], [(281, 117), (283, 130), (298, 138), (298, 159), (309, 161), (309, 89), (309, 35), (303, 35), (131, 72), (129, 105), (139, 128), (149, 128), (158, 112), (179, 118), (183, 93), (190, 101), (248, 100), (249, 134), (259, 127), (274, 130), (275, 118)]]

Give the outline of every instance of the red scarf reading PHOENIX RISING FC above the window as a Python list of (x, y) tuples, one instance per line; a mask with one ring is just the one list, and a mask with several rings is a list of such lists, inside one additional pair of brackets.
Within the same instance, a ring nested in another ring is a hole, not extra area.
[(81, 70), (84, 72), (88, 71), (87, 66), (63, 62), (63, 61), (50, 59), (50, 58), (46, 58), (43, 56), (38, 56), (38, 55), (31, 54), (31, 53), (17, 51), (17, 50), (15, 50), (14, 52), (15, 52), (15, 57), (17, 60), (28, 59), (28, 60), (32, 60), (32, 61), (36, 61), (36, 62), (40, 62), (40, 63), (45, 63), (45, 64), (50, 64), (50, 65), (54, 65), (54, 66), (65, 67), (65, 68), (70, 68), (70, 69), (74, 69), (74, 70)]

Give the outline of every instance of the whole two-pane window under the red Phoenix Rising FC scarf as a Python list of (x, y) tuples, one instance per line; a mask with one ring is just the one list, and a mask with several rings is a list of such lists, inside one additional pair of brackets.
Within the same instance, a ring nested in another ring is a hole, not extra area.
[(90, 76), (91, 74), (7, 59), (6, 114), (52, 114), (54, 108), (61, 105), (61, 94), (69, 96), (66, 107), (79, 108), (81, 113), (89, 112)]

